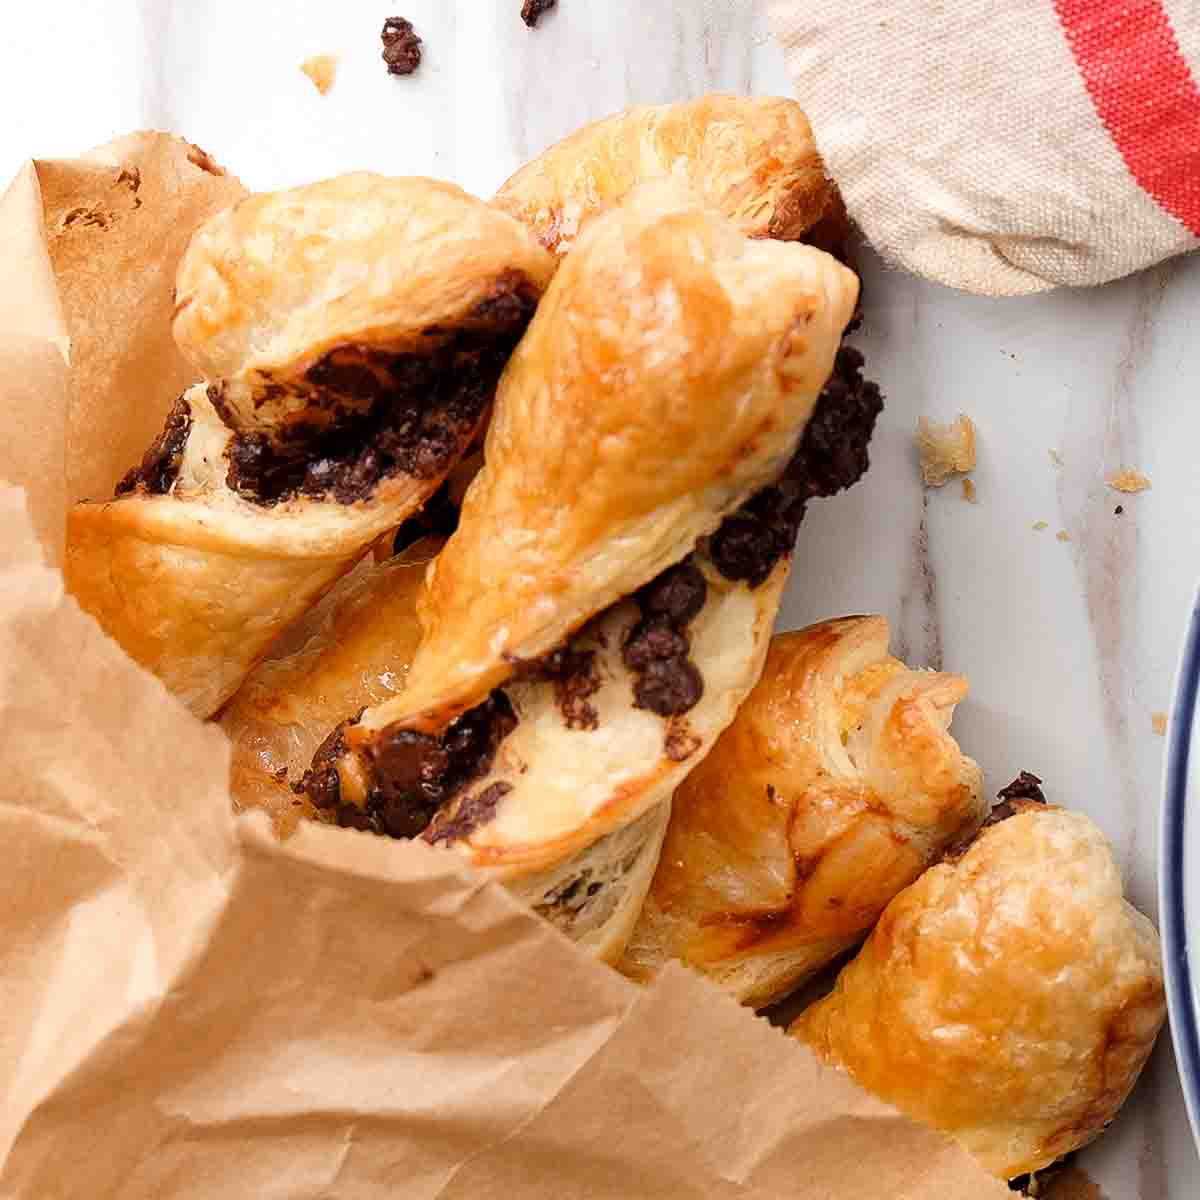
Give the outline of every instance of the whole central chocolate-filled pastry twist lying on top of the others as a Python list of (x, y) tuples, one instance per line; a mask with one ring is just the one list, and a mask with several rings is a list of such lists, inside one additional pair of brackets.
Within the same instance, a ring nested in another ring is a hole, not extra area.
[(408, 683), (331, 734), (314, 804), (619, 950), (636, 906), (606, 881), (648, 884), (672, 791), (758, 677), (806, 499), (865, 469), (856, 292), (671, 184), (592, 224), (505, 370)]

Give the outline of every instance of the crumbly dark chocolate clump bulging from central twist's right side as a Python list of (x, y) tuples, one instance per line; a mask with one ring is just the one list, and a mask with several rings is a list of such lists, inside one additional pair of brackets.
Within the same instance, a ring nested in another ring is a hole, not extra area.
[(713, 565), (727, 580), (758, 587), (792, 552), (808, 502), (850, 487), (866, 470), (866, 448), (883, 397), (876, 384), (863, 379), (863, 361), (852, 346), (838, 350), (833, 374), (782, 478), (750, 497), (709, 539)]

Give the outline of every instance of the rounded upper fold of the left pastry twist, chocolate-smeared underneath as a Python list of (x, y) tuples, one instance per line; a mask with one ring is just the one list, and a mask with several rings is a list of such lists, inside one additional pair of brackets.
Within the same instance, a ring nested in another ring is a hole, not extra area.
[(308, 437), (436, 388), (431, 373), (491, 347), (498, 325), (523, 325), (552, 271), (520, 222), (454, 184), (358, 172), (250, 196), (202, 226), (179, 268), (175, 341), (221, 380), (232, 427)]

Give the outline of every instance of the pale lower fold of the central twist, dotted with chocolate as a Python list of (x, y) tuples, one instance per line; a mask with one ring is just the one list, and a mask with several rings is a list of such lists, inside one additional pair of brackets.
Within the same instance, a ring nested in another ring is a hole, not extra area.
[[(787, 565), (778, 563), (751, 587), (725, 578), (697, 553), (589, 622), (560, 653), (508, 680), (439, 738), (398, 730), (380, 740), (365, 805), (346, 802), (336, 767), (323, 769), (338, 761), (353, 724), (318, 751), (307, 792), (340, 824), (421, 835), (463, 854), (616, 962), (658, 863), (671, 794), (762, 670)], [(678, 600), (682, 589), (688, 599), (677, 604), (682, 616), (667, 634), (682, 641), (683, 658), (670, 664), (678, 674), (667, 691), (695, 689), (674, 706), (683, 710), (662, 712), (671, 707), (662, 695), (642, 697), (647, 674), (630, 648), (652, 626), (666, 628), (655, 623), (654, 596)], [(395, 619), (388, 611), (374, 620), (383, 655), (394, 653), (388, 624)], [(371, 623), (365, 614), (364, 631)], [(336, 630), (328, 641), (337, 644)], [(330, 774), (331, 790), (322, 786)]]

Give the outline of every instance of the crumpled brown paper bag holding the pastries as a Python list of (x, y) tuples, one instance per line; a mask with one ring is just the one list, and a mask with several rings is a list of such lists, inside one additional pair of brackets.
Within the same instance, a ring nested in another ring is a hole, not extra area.
[(53, 564), (67, 500), (190, 379), (175, 262), (238, 193), (142, 134), (0, 205), (0, 1196), (1007, 1196), (707, 982), (641, 991), (451, 854), (233, 817), (223, 734)]

